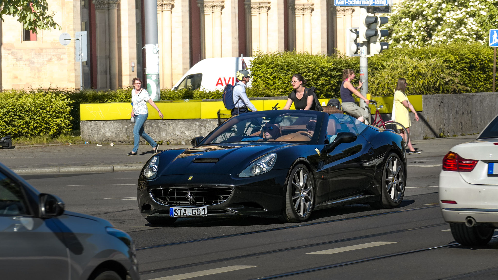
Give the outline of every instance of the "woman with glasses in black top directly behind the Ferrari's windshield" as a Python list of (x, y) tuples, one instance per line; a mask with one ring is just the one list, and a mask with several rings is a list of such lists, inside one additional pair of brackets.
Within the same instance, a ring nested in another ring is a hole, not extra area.
[(290, 106), (294, 103), (296, 110), (316, 111), (313, 93), (309, 92), (309, 88), (304, 87), (306, 82), (301, 74), (292, 76), (290, 83), (294, 90), (287, 96), (287, 103), (283, 107), (284, 110), (290, 109)]

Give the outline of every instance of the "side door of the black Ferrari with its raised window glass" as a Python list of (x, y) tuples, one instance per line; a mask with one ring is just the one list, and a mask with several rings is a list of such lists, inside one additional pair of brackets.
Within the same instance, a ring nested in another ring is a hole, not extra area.
[[(330, 182), (329, 199), (337, 199), (365, 190), (372, 183), (375, 171), (373, 146), (361, 135), (367, 126), (363, 123), (356, 123), (358, 120), (348, 115), (342, 116), (340, 118), (337, 118), (336, 114), (330, 116), (328, 134), (354, 132), (357, 138), (351, 143), (341, 143), (328, 151), (325, 169)], [(333, 126), (336, 131), (333, 130)], [(332, 136), (329, 139), (333, 142), (335, 137)]]

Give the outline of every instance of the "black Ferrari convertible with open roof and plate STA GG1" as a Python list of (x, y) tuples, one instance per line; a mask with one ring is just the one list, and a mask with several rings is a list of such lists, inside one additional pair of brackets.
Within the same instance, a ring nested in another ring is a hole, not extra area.
[(258, 216), (307, 220), (312, 210), (403, 199), (402, 137), (345, 114), (271, 110), (231, 117), (192, 148), (150, 158), (138, 208), (151, 224), (177, 218)]

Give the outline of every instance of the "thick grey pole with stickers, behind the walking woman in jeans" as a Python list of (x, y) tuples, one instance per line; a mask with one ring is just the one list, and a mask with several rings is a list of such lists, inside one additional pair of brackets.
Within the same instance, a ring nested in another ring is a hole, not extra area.
[(159, 39), (157, 35), (157, 0), (144, 0), (145, 13), (145, 84), (153, 101), (161, 99), (159, 85)]

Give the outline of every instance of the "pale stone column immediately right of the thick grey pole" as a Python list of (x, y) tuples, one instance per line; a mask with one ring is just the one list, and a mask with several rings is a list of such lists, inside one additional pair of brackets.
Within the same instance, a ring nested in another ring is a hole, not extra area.
[(157, 19), (159, 20), (159, 59), (161, 73), (160, 81), (163, 88), (173, 87), (173, 63), (171, 48), (171, 12), (174, 7), (174, 0), (157, 1)]

